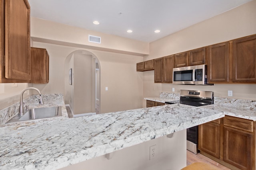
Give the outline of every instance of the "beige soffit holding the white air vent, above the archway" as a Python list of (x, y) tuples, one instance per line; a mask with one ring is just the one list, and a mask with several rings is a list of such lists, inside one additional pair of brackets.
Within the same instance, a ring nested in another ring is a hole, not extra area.
[[(33, 41), (46, 43), (70, 44), (86, 49), (100, 49), (102, 51), (140, 55), (149, 53), (149, 43), (136, 41), (116, 35), (100, 33), (88, 29), (64, 25), (48, 20), (31, 17), (31, 37)], [(101, 44), (88, 42), (88, 35), (101, 37)]]

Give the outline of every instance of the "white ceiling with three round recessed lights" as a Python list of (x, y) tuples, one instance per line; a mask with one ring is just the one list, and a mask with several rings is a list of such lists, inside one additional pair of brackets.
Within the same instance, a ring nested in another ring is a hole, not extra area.
[[(144, 42), (155, 41), (249, 1), (28, 0), (33, 17)], [(100, 24), (94, 25), (95, 20)], [(127, 33), (128, 29), (133, 32)], [(160, 32), (154, 33), (156, 29)]]

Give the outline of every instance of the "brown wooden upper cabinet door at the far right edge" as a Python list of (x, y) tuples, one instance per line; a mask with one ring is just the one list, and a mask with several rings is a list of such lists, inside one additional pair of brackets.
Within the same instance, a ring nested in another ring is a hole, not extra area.
[(256, 82), (256, 36), (233, 41), (233, 82)]

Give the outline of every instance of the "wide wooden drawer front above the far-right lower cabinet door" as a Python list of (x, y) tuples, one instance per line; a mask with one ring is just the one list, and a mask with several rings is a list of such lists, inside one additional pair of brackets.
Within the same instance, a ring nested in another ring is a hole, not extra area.
[(242, 119), (238, 117), (225, 116), (224, 125), (229, 127), (234, 127), (237, 129), (242, 129), (244, 131), (253, 132), (253, 121)]

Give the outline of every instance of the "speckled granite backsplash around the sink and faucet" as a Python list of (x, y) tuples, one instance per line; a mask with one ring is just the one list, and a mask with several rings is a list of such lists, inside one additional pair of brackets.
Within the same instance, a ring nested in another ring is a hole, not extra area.
[[(44, 102), (43, 105), (39, 104), (39, 95), (35, 94), (23, 100), (26, 104), (28, 104), (28, 108), (34, 107), (47, 107), (52, 106), (52, 104), (56, 105), (64, 105), (63, 94), (42, 94), (42, 100)], [(0, 124), (5, 123), (14, 115), (18, 114), (20, 107), (20, 102), (8, 106), (2, 110), (0, 110)]]

